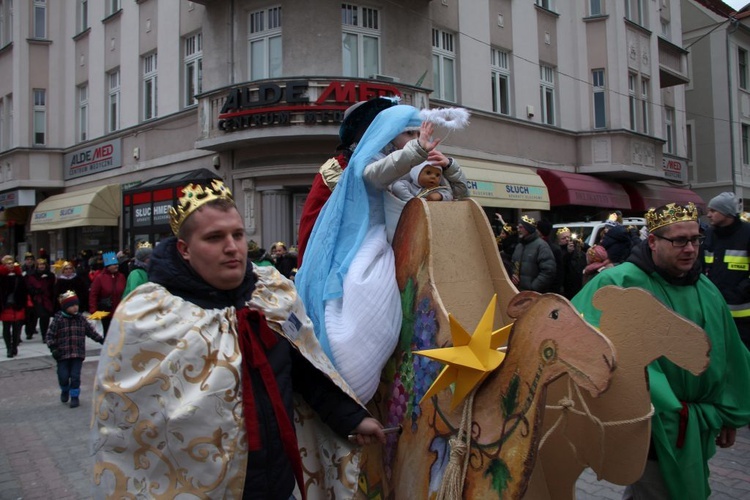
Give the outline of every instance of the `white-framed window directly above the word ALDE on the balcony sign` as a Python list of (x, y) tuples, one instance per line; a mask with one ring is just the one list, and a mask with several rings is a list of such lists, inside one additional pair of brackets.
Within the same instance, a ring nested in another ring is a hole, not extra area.
[(282, 71), (281, 7), (248, 14), (248, 72), (250, 80), (278, 78)]

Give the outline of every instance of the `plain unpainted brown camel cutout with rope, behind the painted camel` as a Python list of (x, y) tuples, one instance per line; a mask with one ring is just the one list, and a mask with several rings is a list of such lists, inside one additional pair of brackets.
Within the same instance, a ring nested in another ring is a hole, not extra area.
[(602, 311), (600, 330), (615, 345), (617, 370), (598, 399), (580, 394), (568, 377), (550, 384), (544, 432), (554, 430), (540, 450), (532, 482), (546, 484), (533, 485), (534, 498), (544, 498), (545, 489), (551, 499), (575, 498), (576, 480), (586, 467), (611, 483), (638, 480), (651, 434), (646, 366), (666, 356), (694, 375), (708, 367), (711, 346), (703, 329), (649, 292), (604, 287), (594, 295), (594, 306)]

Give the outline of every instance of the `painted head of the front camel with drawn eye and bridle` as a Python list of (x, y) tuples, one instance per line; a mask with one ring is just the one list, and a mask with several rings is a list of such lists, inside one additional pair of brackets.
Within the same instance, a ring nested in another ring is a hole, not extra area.
[(520, 292), (508, 304), (508, 315), (515, 318), (508, 358), (543, 365), (545, 384), (567, 373), (592, 396), (607, 389), (615, 368), (614, 348), (567, 299)]

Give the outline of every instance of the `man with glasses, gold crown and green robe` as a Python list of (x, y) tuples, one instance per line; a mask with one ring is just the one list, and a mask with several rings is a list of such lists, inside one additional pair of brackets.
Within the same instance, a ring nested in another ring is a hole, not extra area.
[(703, 236), (695, 205), (651, 209), (646, 222), (648, 238), (627, 262), (600, 273), (572, 302), (598, 326), (601, 311), (592, 299), (599, 288), (640, 287), (706, 331), (711, 361), (701, 375), (665, 358), (648, 367), (655, 410), (649, 460), (623, 498), (708, 498), (708, 459), (717, 445), (731, 446), (736, 429), (750, 422), (750, 353), (719, 290), (701, 274), (697, 259)]

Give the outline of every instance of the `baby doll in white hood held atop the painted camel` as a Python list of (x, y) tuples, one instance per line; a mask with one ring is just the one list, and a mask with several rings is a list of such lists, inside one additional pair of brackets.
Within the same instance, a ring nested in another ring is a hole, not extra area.
[(466, 176), (453, 158), (448, 158), (445, 168), (439, 164), (420, 163), (408, 175), (391, 184), (390, 191), (402, 201), (412, 198), (450, 201), (465, 198), (469, 193)]

